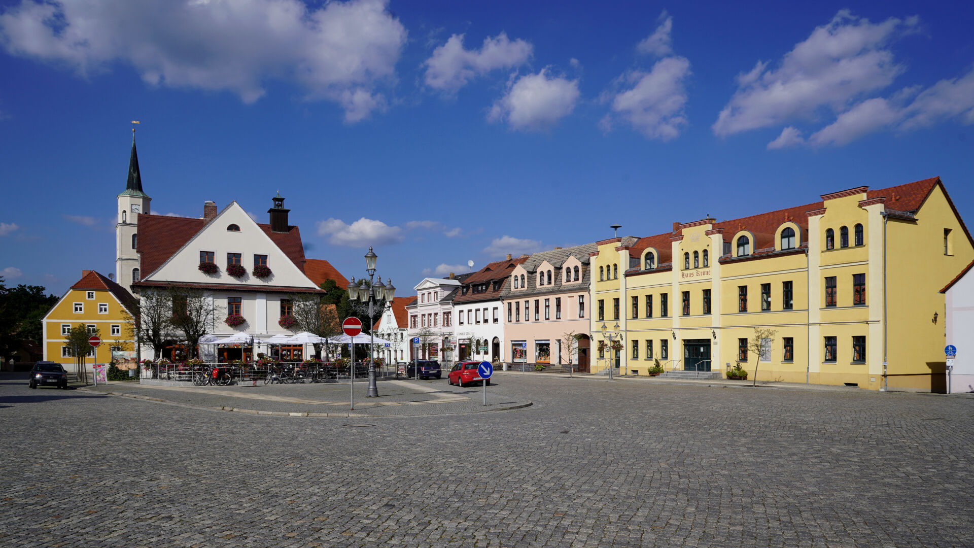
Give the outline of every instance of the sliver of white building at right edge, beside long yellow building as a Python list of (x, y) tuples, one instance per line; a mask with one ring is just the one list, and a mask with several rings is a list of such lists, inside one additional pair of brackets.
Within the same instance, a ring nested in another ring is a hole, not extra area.
[(974, 262), (960, 271), (960, 274), (940, 291), (946, 294), (947, 344), (954, 345), (957, 355), (954, 358), (954, 371), (948, 371), (949, 392), (974, 392)]

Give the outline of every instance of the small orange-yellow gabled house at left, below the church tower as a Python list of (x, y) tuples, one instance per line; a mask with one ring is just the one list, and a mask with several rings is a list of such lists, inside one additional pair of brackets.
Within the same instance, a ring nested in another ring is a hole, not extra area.
[(78, 280), (44, 317), (44, 359), (59, 364), (74, 364), (75, 358), (65, 346), (66, 333), (84, 324), (90, 332), (97, 330), (101, 345), (88, 354), (98, 364), (107, 364), (113, 351), (131, 351), (134, 347), (126, 321), (131, 317), (134, 298), (122, 286), (94, 270), (82, 270)]

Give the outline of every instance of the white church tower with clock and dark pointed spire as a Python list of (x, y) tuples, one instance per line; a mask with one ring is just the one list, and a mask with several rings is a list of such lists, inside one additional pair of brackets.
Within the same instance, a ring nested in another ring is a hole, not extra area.
[[(138, 215), (149, 213), (149, 198), (142, 192), (142, 176), (138, 173), (138, 155), (135, 153), (135, 129), (131, 130), (131, 155), (129, 180), (125, 191), (118, 195), (118, 218), (115, 223), (115, 280), (129, 288), (142, 277), (138, 245)], [(147, 273), (146, 273), (147, 274)]]

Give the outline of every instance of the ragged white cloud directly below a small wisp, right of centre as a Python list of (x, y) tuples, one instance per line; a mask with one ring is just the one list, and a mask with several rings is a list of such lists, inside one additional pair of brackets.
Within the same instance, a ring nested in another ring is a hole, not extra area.
[(611, 98), (612, 112), (600, 122), (604, 131), (619, 118), (649, 138), (668, 140), (680, 135), (687, 125), (685, 81), (690, 76), (690, 60), (683, 57), (659, 59), (649, 72), (633, 70), (618, 82), (632, 87), (604, 98)]

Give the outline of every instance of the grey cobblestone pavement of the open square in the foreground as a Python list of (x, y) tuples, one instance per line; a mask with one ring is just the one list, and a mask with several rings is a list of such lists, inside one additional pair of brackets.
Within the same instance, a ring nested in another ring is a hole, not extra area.
[(0, 545), (974, 545), (974, 399), (491, 388), (536, 405), (350, 427), (5, 380)]

